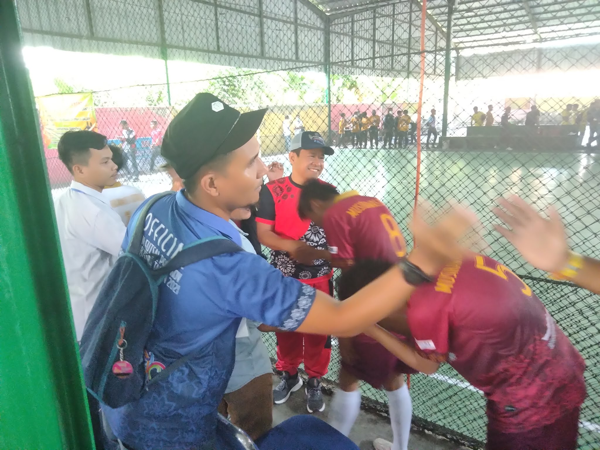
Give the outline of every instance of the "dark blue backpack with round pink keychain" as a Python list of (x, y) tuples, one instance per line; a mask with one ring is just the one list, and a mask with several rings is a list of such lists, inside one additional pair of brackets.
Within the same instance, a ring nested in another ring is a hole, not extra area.
[(230, 239), (214, 236), (187, 245), (164, 267), (151, 270), (139, 256), (145, 219), (152, 205), (167, 195), (174, 193), (157, 194), (143, 206), (127, 251), (116, 260), (83, 328), (80, 354), (86, 388), (112, 408), (138, 400), (144, 390), (194, 356), (181, 355), (146, 379), (146, 342), (160, 301), (158, 286), (167, 275), (203, 259), (242, 251)]

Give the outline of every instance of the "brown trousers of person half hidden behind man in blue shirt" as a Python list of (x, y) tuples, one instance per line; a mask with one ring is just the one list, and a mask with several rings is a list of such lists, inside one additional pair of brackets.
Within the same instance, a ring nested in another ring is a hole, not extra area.
[(223, 395), (218, 407), (221, 415), (242, 428), (253, 440), (273, 426), (273, 374), (265, 373), (237, 391)]

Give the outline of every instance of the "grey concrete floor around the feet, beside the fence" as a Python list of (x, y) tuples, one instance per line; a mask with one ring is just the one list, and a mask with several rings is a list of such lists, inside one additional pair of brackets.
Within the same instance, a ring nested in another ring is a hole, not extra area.
[[(273, 386), (277, 386), (280, 379), (278, 376), (273, 376)], [(331, 397), (325, 395), (325, 411), (316, 413), (317, 417), (327, 421), (328, 406), (331, 402)], [(286, 403), (274, 405), (273, 407), (273, 425), (280, 424), (284, 420), (298, 415), (308, 414), (306, 409), (306, 395), (304, 387), (290, 395)], [(373, 440), (377, 437), (382, 437), (390, 442), (392, 441), (392, 428), (389, 425), (389, 419), (367, 413), (363, 410), (358, 415), (358, 419), (350, 432), (352, 439), (361, 450), (373, 450)], [(463, 449), (448, 440), (426, 434), (419, 430), (412, 430), (410, 433), (409, 450), (459, 450)]]

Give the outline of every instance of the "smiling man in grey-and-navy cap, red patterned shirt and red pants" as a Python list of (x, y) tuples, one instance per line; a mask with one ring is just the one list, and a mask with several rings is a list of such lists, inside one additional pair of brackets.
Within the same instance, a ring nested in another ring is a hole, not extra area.
[[(333, 149), (314, 131), (302, 131), (293, 137), (289, 154), (292, 175), (268, 182), (260, 191), (256, 215), (259, 241), (271, 248), (271, 264), (284, 275), (330, 295), (333, 293), (331, 265), (325, 232), (310, 219), (298, 215), (302, 185), (323, 172), (325, 155)], [(273, 400), (284, 403), (302, 386), (298, 366), (304, 361), (308, 374), (308, 412), (323, 411), (325, 402), (320, 378), (327, 373), (331, 358), (331, 337), (278, 332), (277, 370), (283, 372), (281, 383), (273, 390)]]

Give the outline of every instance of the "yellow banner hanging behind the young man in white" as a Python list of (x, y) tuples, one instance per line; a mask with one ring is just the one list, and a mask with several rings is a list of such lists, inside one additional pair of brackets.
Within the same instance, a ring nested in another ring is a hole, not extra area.
[(91, 92), (47, 95), (36, 100), (42, 140), (46, 149), (55, 149), (58, 140), (66, 131), (96, 131), (96, 115)]

